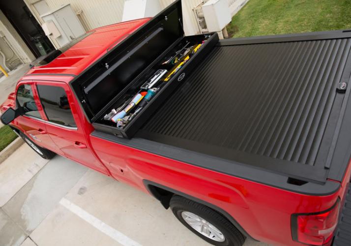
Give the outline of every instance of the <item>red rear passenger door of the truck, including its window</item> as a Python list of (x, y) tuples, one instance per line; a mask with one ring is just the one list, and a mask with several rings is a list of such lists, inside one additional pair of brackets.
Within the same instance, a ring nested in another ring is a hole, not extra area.
[(37, 82), (36, 88), (47, 118), (46, 131), (59, 150), (66, 157), (106, 174), (106, 168), (88, 147), (68, 86)]

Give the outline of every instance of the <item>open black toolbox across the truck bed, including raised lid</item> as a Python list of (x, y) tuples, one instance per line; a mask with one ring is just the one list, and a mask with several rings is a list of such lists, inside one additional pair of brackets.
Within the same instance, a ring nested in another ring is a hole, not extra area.
[[(95, 129), (119, 137), (133, 137), (216, 45), (217, 33), (184, 36), (181, 11), (181, 1), (177, 0), (71, 82)], [(165, 64), (179, 47), (187, 49), (187, 46), (192, 47), (192, 56), (185, 55), (179, 61)], [(125, 106), (141, 92), (143, 84), (159, 69), (167, 70), (159, 82), (159, 91), (123, 128), (104, 120), (105, 115)]]

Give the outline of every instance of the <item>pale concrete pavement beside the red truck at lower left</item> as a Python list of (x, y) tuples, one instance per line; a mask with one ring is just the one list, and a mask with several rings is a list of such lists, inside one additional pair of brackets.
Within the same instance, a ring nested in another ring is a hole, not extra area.
[(208, 245), (148, 194), (27, 145), (0, 165), (0, 207), (1, 246)]

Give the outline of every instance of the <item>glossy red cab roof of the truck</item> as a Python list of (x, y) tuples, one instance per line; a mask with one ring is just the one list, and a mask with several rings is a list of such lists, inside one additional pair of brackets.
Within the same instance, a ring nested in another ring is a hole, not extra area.
[(89, 31), (87, 37), (59, 55), (52, 62), (35, 66), (27, 75), (79, 75), (150, 18), (113, 24)]

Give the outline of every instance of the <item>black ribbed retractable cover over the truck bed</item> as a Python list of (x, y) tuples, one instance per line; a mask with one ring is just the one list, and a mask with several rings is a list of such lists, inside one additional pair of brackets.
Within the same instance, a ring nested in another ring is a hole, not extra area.
[(220, 41), (136, 137), (323, 183), (349, 98), (347, 35)]

